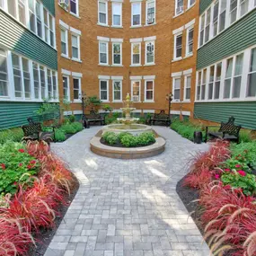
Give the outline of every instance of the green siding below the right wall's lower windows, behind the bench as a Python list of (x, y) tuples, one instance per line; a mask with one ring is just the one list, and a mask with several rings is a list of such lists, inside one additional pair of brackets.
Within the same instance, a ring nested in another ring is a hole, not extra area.
[(235, 123), (243, 128), (256, 129), (256, 102), (195, 103), (194, 118), (215, 122), (234, 116)]

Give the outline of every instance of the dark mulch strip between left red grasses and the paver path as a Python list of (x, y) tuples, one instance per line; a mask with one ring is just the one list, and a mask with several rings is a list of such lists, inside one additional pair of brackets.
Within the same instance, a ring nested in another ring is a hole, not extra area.
[(41, 229), (40, 234), (37, 234), (35, 236), (36, 240), (38, 241), (36, 243), (36, 247), (31, 247), (31, 250), (28, 252), (28, 256), (43, 256), (46, 252), (49, 243), (51, 242), (53, 236), (55, 235), (57, 231), (57, 227), (60, 225), (63, 217), (66, 214), (66, 211), (68, 207), (70, 206), (73, 199), (75, 199), (75, 194), (77, 190), (79, 189), (79, 182), (75, 178), (75, 175), (71, 173), (74, 178), (74, 185), (72, 188), (70, 188), (70, 195), (66, 194), (65, 201), (67, 205), (60, 205), (58, 207), (58, 212), (60, 216), (57, 216), (55, 219), (55, 227), (53, 229)]

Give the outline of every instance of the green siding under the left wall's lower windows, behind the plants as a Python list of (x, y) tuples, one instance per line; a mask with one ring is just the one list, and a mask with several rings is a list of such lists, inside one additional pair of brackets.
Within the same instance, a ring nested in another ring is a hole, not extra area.
[(35, 121), (57, 118), (59, 113), (49, 114), (39, 118), (35, 111), (40, 108), (40, 102), (0, 102), (0, 130), (21, 127), (28, 124), (27, 118)]

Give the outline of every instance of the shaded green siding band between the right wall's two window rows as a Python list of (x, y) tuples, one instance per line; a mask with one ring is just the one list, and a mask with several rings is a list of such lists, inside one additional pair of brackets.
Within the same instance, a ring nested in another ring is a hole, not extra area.
[(214, 40), (198, 50), (197, 69), (209, 66), (218, 60), (256, 44), (256, 10), (234, 23)]

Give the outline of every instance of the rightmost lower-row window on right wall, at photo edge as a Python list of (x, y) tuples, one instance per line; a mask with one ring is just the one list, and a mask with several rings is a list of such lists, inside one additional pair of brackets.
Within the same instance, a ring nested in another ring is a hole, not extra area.
[(256, 48), (251, 51), (250, 69), (247, 84), (247, 97), (256, 96)]

